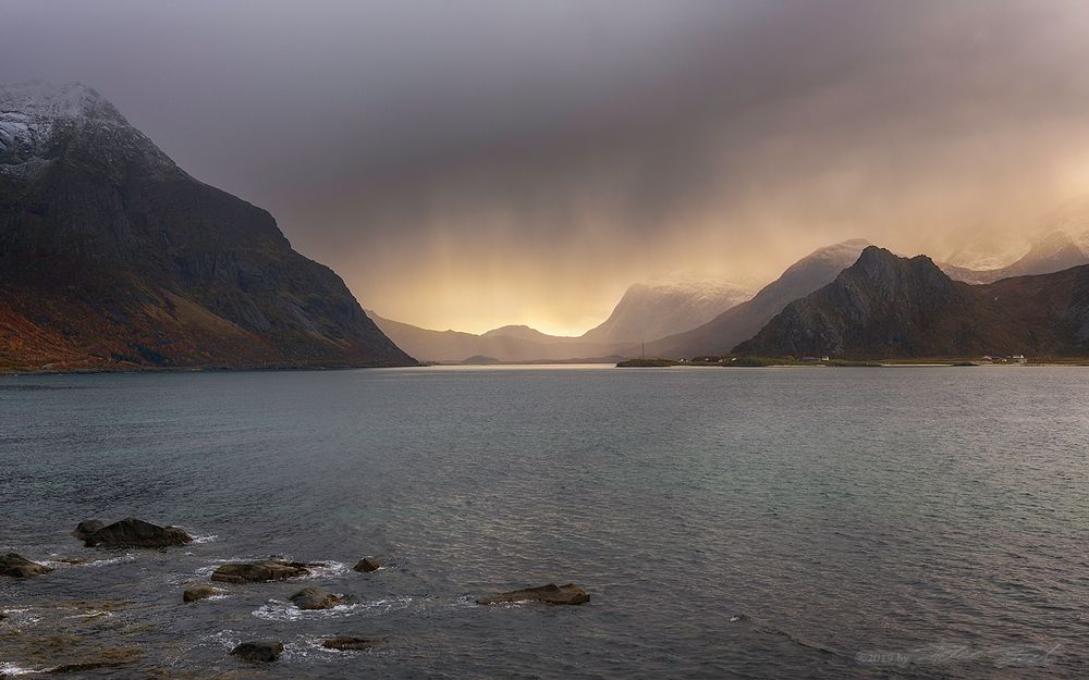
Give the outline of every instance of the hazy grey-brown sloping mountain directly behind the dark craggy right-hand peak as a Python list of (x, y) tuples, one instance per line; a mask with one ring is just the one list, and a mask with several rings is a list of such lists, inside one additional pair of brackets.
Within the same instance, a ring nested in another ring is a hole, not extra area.
[(821, 248), (792, 264), (752, 299), (722, 312), (692, 331), (647, 343), (647, 356), (719, 356), (752, 337), (772, 317), (799, 297), (832, 282), (870, 244), (856, 238)]

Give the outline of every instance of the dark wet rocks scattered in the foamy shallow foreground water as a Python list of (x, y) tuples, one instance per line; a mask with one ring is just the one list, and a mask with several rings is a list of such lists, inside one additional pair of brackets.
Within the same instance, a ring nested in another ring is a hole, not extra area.
[[(100, 520), (86, 520), (71, 532), (71, 535), (84, 543), (85, 547), (101, 551), (136, 549), (156, 551), (169, 554), (171, 548), (185, 546), (193, 542), (193, 536), (179, 527), (158, 526), (135, 518), (126, 518), (110, 524)], [(81, 560), (69, 558), (51, 558), (50, 564), (78, 564)], [(61, 565), (63, 566), (63, 565)], [(210, 599), (225, 599), (240, 595), (245, 590), (260, 589), (262, 584), (291, 582), (305, 579), (327, 568), (326, 562), (303, 562), (270, 557), (256, 561), (228, 561), (218, 565), (208, 573), (208, 582), (189, 584), (178, 598), (178, 606), (199, 607), (200, 603)], [(372, 574), (383, 568), (375, 557), (363, 557), (352, 571), (359, 574)], [(28, 559), (20, 554), (10, 553), (0, 556), (0, 577), (28, 581), (48, 579), (54, 569), (47, 564)], [(93, 593), (87, 593), (91, 596)], [(580, 605), (589, 602), (590, 595), (574, 584), (555, 585), (552, 583), (527, 588), (523, 590), (495, 592), (476, 598), (478, 605), (504, 603), (534, 602), (541, 605)], [(91, 603), (86, 606), (75, 602), (71, 605), (78, 614), (76, 618), (94, 619), (109, 616), (111, 608), (121, 605), (109, 603)], [(360, 598), (351, 593), (340, 593), (319, 585), (302, 588), (290, 597), (285, 606), (303, 611), (321, 611), (337, 607), (358, 604)], [(19, 634), (12, 630), (13, 621), (8, 619), (0, 608), (0, 633)], [(9, 610), (12, 611), (12, 610)], [(71, 618), (71, 617), (69, 617)], [(8, 628), (9, 631), (4, 631)], [(352, 631), (353, 633), (355, 631)], [(0, 680), (8, 680), (26, 672), (65, 675), (87, 672), (96, 669), (114, 669), (132, 667), (143, 658), (143, 653), (135, 647), (90, 647), (81, 648), (77, 654), (70, 653), (82, 636), (53, 635), (50, 641), (34, 644), (33, 653), (27, 658), (0, 658)], [(332, 652), (368, 652), (381, 647), (383, 640), (345, 634), (343, 631), (330, 630), (318, 641), (325, 650)], [(244, 640), (234, 644), (229, 655), (245, 665), (271, 664), (277, 662), (284, 651), (284, 641), (273, 638)], [(17, 655), (16, 655), (17, 656)], [(53, 663), (50, 664), (49, 662)], [(12, 666), (14, 664), (14, 666)], [(38, 666), (36, 669), (24, 666)]]

